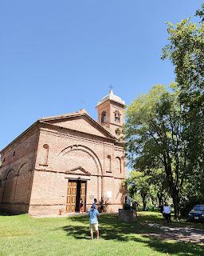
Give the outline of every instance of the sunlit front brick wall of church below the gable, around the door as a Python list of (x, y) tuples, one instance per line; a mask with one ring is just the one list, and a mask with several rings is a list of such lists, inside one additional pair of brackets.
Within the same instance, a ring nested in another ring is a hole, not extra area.
[[(111, 170), (108, 156), (111, 156)], [(69, 173), (77, 167), (89, 174), (81, 176), (78, 170), (77, 173)], [(29, 214), (57, 214), (60, 209), (65, 210), (70, 176), (72, 179), (87, 179), (87, 209), (93, 198), (99, 201), (103, 196), (108, 203), (108, 210), (116, 211), (121, 207), (120, 185), (124, 172), (124, 149), (115, 146), (112, 140), (43, 125), (37, 148)], [(111, 193), (111, 198), (108, 198), (107, 193)]]

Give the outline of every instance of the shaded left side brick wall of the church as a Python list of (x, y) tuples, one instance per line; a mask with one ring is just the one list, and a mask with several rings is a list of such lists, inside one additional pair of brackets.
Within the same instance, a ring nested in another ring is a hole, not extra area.
[(33, 128), (1, 151), (0, 210), (28, 211), (36, 143), (37, 128)]

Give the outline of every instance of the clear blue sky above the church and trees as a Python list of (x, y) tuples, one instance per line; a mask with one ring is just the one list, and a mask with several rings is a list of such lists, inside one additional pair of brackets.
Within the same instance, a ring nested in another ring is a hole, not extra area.
[(197, 0), (2, 0), (0, 149), (37, 118), (88, 110), (114, 93), (129, 104), (174, 80), (162, 61), (166, 21), (194, 16)]

